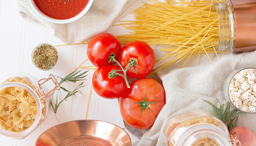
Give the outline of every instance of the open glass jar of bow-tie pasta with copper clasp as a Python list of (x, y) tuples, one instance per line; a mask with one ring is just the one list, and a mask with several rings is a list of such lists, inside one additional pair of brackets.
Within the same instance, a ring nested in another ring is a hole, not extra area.
[[(41, 86), (49, 80), (55, 87), (45, 93)], [(0, 84), (0, 134), (13, 140), (25, 138), (46, 119), (49, 110), (46, 97), (60, 89), (52, 74), (37, 85), (23, 75), (7, 76)]]

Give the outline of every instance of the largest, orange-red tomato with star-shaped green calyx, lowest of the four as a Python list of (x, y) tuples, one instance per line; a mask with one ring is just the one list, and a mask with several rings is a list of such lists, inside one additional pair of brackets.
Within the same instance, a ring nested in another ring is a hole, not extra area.
[[(131, 88), (128, 88), (119, 99), (121, 115), (132, 127), (150, 128), (165, 105), (165, 90), (153, 78), (140, 78), (133, 81), (130, 86)], [(145, 100), (145, 96), (148, 103), (139, 103)]]

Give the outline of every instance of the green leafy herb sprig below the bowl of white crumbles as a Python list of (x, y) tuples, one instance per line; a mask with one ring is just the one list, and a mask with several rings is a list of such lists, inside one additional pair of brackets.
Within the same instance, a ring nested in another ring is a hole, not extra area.
[[(219, 102), (218, 99), (216, 100)], [(207, 100), (203, 100), (203, 101), (210, 105), (212, 110), (209, 110), (209, 112), (211, 112), (212, 115), (222, 120), (227, 125), (227, 128), (229, 129), (229, 131), (234, 127), (236, 127), (239, 115), (244, 114), (243, 112), (238, 111), (237, 109), (231, 110), (229, 102), (227, 103), (227, 107), (224, 110), (224, 104), (221, 104), (220, 102), (219, 102), (220, 105), (218, 108), (214, 104), (212, 104), (210, 101), (207, 101)]]

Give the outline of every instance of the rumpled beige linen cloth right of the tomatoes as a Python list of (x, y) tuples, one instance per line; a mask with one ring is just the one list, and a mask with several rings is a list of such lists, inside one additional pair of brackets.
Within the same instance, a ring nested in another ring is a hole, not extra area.
[[(163, 52), (159, 52), (157, 48), (154, 51), (156, 58), (163, 55)], [(216, 100), (218, 99), (226, 105), (227, 100), (222, 95), (225, 77), (234, 69), (256, 67), (256, 51), (219, 53), (219, 59), (215, 54), (209, 54), (209, 56), (214, 66), (206, 55), (202, 55), (198, 64), (197, 57), (193, 57), (183, 68), (180, 68), (183, 64), (180, 62), (157, 72), (165, 88), (166, 104), (150, 129), (137, 130), (125, 125), (129, 131), (140, 138), (140, 141), (133, 143), (133, 146), (166, 145), (163, 129), (172, 116), (197, 109), (210, 109), (202, 99), (219, 106)], [(241, 115), (237, 126), (245, 126), (256, 132), (256, 114)]]

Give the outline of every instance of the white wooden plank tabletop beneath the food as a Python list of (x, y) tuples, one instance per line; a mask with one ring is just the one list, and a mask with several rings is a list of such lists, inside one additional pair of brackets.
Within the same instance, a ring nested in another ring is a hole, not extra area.
[[(128, 15), (124, 19), (132, 19), (132, 16)], [(117, 27), (118, 29), (116, 29)], [(125, 31), (127, 30), (121, 28), (121, 26), (112, 26), (107, 32), (118, 35), (126, 33)], [(41, 71), (32, 64), (32, 50), (40, 43), (50, 43), (57, 46), (60, 60), (53, 70)], [(0, 79), (9, 74), (17, 73), (29, 73), (36, 81), (41, 78), (48, 78), (49, 74), (64, 77), (87, 58), (87, 44), (58, 46), (64, 44), (50, 34), (44, 26), (23, 19), (18, 13), (16, 0), (0, 0)], [(91, 64), (88, 60), (82, 66), (91, 66)], [(87, 73), (87, 80), (84, 81), (86, 87), (82, 89), (83, 95), (79, 94), (77, 97), (70, 97), (68, 101), (64, 101), (60, 105), (57, 111), (58, 119), (61, 123), (78, 119), (95, 119), (110, 122), (123, 128), (124, 123), (120, 114), (118, 100), (103, 99), (93, 89), (90, 95), (93, 71), (89, 70)], [(79, 83), (76, 84), (78, 85)], [(75, 86), (74, 84), (65, 84), (65, 87), (69, 90), (74, 89)], [(44, 88), (48, 89), (47, 85)], [(55, 99), (56, 97), (53, 98)], [(57, 124), (59, 122), (54, 113), (49, 110), (45, 122), (29, 136), (19, 141), (0, 137), (0, 145), (33, 146), (42, 132)], [(128, 134), (132, 142), (138, 141), (131, 133), (128, 132)]]

